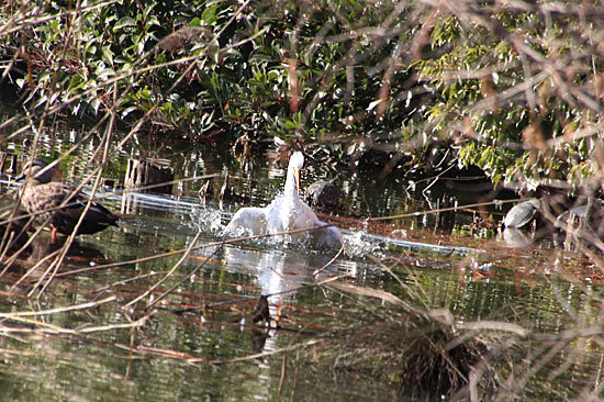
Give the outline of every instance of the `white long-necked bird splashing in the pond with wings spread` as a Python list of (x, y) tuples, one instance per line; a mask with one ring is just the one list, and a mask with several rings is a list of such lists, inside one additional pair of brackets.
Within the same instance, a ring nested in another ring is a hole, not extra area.
[(315, 248), (342, 247), (343, 237), (339, 230), (320, 221), (313, 210), (300, 199), (300, 169), (303, 165), (304, 155), (301, 152), (293, 153), (288, 166), (283, 193), (265, 208), (242, 208), (235, 213), (225, 232), (257, 236), (325, 226), (284, 235), (283, 241)]

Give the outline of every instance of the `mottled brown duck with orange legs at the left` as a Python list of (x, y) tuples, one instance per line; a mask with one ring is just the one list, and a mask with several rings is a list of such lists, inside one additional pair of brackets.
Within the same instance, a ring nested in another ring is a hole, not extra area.
[[(90, 198), (64, 182), (51, 181), (52, 171), (42, 159), (26, 164), (23, 174), (15, 180), (23, 179), (21, 204), (31, 214), (53, 227), (52, 242), (56, 234), (70, 235), (78, 223)], [(109, 226), (118, 226), (119, 217), (100, 203), (90, 201), (90, 206), (81, 221), (77, 235), (92, 234)]]

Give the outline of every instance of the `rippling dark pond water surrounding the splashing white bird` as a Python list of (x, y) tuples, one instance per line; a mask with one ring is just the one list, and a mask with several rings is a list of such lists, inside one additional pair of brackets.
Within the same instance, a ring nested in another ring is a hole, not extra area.
[[(77, 133), (48, 135), (42, 138), (40, 152), (52, 159), (78, 137)], [(27, 154), (22, 139), (11, 143), (9, 150)], [(97, 144), (94, 137), (60, 164), (64, 180), (76, 181), (94, 166), (89, 158)], [(376, 175), (345, 172), (343, 210), (335, 216), (323, 215), (345, 233), (345, 250), (315, 280), (312, 272), (327, 265), (336, 252), (270, 241), (215, 245), (224, 239), (221, 230), (239, 206), (265, 205), (281, 189), (284, 170), (277, 164), (275, 149), (236, 158), (228, 149), (155, 139), (139, 148), (115, 149), (103, 176), (122, 181), (126, 159), (141, 154), (168, 159), (177, 179), (228, 170), (235, 190), (249, 196), (249, 201), (225, 202), (221, 208), (215, 198), (209, 198), (203, 205), (197, 197), (202, 185), (199, 181), (177, 185), (171, 196), (103, 188), (99, 197), (109, 209), (123, 214), (121, 227), (78, 238), (59, 276), (36, 299), (37, 292), (26, 294), (48, 264), (13, 286), (58, 247), (51, 246), (48, 233), (43, 233), (32, 250), (1, 278), (1, 312), (45, 311), (115, 299), (68, 312), (3, 316), (2, 399), (381, 401), (402, 397), (371, 376), (318, 370), (307, 356), (297, 358), (295, 351), (288, 354), (283, 370), (284, 353), (280, 349), (312, 343), (336, 326), (362, 330), (368, 320), (358, 319), (359, 306), (382, 303), (333, 288), (307, 287), (335, 277), (357, 287), (391, 292), (402, 300), (409, 300), (411, 289), (422, 294), (427, 308), (446, 308), (458, 321), (495, 317), (537, 332), (572, 328), (585, 321), (602, 324), (602, 306), (595, 302), (602, 295), (600, 278), (591, 273), (589, 260), (575, 254), (552, 248), (549, 243), (510, 247), (496, 228), (473, 227), (471, 213), (457, 216), (452, 234), (435, 232), (433, 217), (424, 215), (385, 223), (366, 221), (368, 216), (434, 208), (435, 194), (447, 191), (444, 188), (425, 196), (420, 190), (406, 191), (409, 183), (398, 178), (379, 181)], [(311, 165), (303, 187), (331, 175), (333, 170)], [(221, 185), (220, 179), (212, 182), (214, 193)], [(10, 206), (12, 196), (7, 188), (3, 182), (3, 205)], [(467, 193), (461, 197), (471, 198)], [(496, 221), (496, 211), (491, 212)], [(184, 258), (177, 253), (135, 261), (189, 246), (195, 249)], [(409, 289), (369, 256), (388, 264), (398, 261), (393, 273)], [(132, 263), (114, 264), (123, 261)], [(153, 298), (144, 297), (135, 309), (126, 306), (176, 265), (176, 272), (153, 292)], [(197, 273), (187, 278), (195, 269)], [(167, 298), (144, 310), (176, 286)], [(270, 312), (280, 319), (281, 330), (267, 331), (250, 322), (255, 298), (260, 294), (271, 295)], [(152, 314), (137, 330), (111, 327), (132, 323), (146, 313)], [(104, 331), (82, 332), (103, 326)], [(299, 349), (307, 354), (312, 347)], [(236, 358), (242, 360), (228, 362)], [(589, 356), (583, 364), (592, 367)], [(556, 390), (582, 387), (582, 376), (577, 372), (558, 376), (556, 381), (551, 386)], [(560, 392), (563, 395), (564, 391)]]

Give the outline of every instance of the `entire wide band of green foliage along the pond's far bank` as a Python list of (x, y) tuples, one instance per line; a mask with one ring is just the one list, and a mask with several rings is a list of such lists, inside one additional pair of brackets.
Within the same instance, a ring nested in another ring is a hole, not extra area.
[[(38, 110), (116, 108), (126, 122), (145, 116), (191, 141), (217, 132), (335, 138), (324, 145), (334, 154), (347, 142), (365, 144), (345, 146), (357, 158), (402, 150), (414, 168), (437, 139), (455, 150), (451, 163), (477, 165), (495, 182), (597, 170), (596, 142), (573, 134), (601, 119), (602, 52), (590, 42), (602, 32), (597, 15), (584, 24), (572, 9), (548, 19), (514, 5), (356, 0), (70, 7), (47, 3), (44, 18), (23, 22), (31, 34), (2, 38), (18, 48), (27, 35), (32, 77), (19, 83)], [(543, 138), (523, 136), (529, 126)]]

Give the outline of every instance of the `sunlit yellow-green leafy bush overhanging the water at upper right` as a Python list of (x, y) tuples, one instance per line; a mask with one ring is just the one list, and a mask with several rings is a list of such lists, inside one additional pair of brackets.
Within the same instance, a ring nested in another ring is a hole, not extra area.
[[(569, 18), (561, 23), (566, 29), (545, 30), (544, 21), (535, 14), (511, 12), (496, 16), (501, 27), (506, 30), (504, 34), (486, 32), (480, 23), (460, 23), (456, 15), (448, 15), (435, 25), (430, 36), (432, 49), (449, 46), (450, 52), (414, 64), (422, 80), (438, 91), (437, 100), (426, 111), (432, 122), (430, 130), (437, 135), (448, 136), (451, 127), (462, 124), (460, 134), (468, 141), (463, 141), (459, 148), (459, 160), (465, 166), (479, 166), (495, 183), (502, 179), (507, 182), (561, 179), (580, 186), (583, 178), (597, 170), (597, 164), (590, 160), (597, 141), (573, 139), (573, 135), (568, 134), (579, 131), (579, 122), (596, 127), (600, 115), (586, 108), (578, 108), (579, 100), (569, 102), (572, 97), (568, 91), (566, 97), (559, 97), (557, 83), (569, 87), (584, 85), (589, 79), (584, 72), (590, 66), (575, 62), (574, 68), (583, 72), (568, 77), (568, 81), (556, 82), (546, 77), (527, 86), (526, 90), (517, 91), (517, 96), (502, 97), (502, 92), (522, 86), (544, 67), (551, 72), (549, 67), (555, 63), (551, 60), (577, 57), (570, 55), (574, 40), (568, 31), (569, 26), (577, 30), (578, 21)], [(527, 47), (512, 42), (508, 35), (523, 37)], [(581, 46), (585, 45), (582, 43)], [(591, 44), (592, 47), (595, 45)], [(591, 58), (592, 63), (595, 60)], [(564, 68), (562, 65), (558, 67)], [(597, 64), (592, 67), (601, 68)], [(467, 77), (463, 77), (465, 71), (469, 72)], [(595, 70), (590, 72), (593, 79)], [(564, 74), (558, 70), (553, 78), (560, 79)], [(474, 107), (486, 98), (497, 97), (504, 102), (482, 102), (483, 108)], [(539, 130), (532, 131), (530, 126)], [(523, 133), (527, 137), (523, 137)], [(563, 138), (564, 133), (570, 143)], [(594, 134), (597, 138), (602, 135), (601, 130), (595, 130)]]

